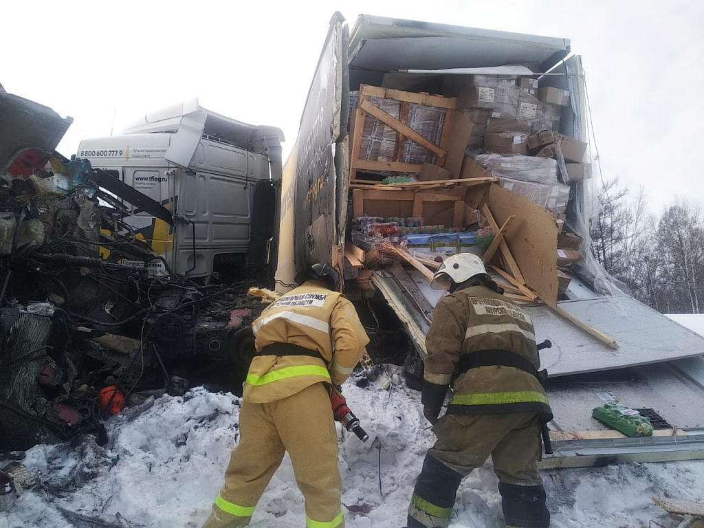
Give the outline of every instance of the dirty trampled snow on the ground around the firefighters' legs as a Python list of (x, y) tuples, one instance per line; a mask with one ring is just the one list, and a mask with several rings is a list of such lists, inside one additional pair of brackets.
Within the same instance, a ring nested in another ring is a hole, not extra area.
[[(347, 527), (406, 525), (413, 484), (434, 436), (422, 416), (420, 394), (400, 379), (396, 367), (386, 366), (385, 374), (365, 389), (351, 382), (343, 387), (370, 434), (363, 443), (338, 425)], [(232, 394), (196, 388), (183, 397), (163, 396), (115, 415), (106, 422), (109, 441), (104, 448), (92, 437), (75, 445), (32, 448), (23, 463), (42, 477), (43, 485), (25, 491), (10, 511), (0, 513), (0, 526), (89, 525), (61, 513), (68, 510), (115, 526), (120, 525), (115, 517), (119, 513), (132, 527), (200, 527), (237, 444), (239, 403)], [(0, 467), (6, 462), (0, 460)], [(635, 528), (648, 526), (650, 520), (672, 527), (677, 522), (651, 496), (704, 501), (704, 461), (553, 470), (543, 472), (543, 480), (557, 528)], [(496, 484), (490, 460), (464, 479), (450, 527), (503, 527)], [(303, 524), (303, 497), (287, 457), (250, 526)]]

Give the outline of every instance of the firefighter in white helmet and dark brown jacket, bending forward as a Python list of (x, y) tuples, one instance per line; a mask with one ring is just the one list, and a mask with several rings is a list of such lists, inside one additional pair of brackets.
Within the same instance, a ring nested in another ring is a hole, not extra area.
[[(489, 455), (506, 525), (546, 528), (536, 463), (540, 424), (552, 412), (538, 378), (533, 323), (470, 253), (447, 258), (432, 286), (450, 292), (437, 303), (425, 341), (423, 414), (437, 441), (415, 484), (408, 528), (448, 526), (461, 480)], [(438, 420), (451, 383), (451, 402)]]

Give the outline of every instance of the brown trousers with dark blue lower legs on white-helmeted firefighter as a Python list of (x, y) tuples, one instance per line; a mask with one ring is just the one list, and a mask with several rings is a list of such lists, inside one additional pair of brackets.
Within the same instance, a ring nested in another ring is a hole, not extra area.
[(541, 456), (538, 415), (444, 415), (433, 427), (408, 508), (408, 528), (446, 527), (463, 477), (491, 455), (505, 523), (546, 528), (550, 514), (536, 463)]

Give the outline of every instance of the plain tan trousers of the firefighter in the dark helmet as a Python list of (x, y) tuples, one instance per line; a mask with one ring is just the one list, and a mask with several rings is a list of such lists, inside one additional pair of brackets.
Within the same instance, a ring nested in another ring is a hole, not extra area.
[(306, 500), (306, 526), (342, 528), (342, 480), (337, 431), (326, 387), (317, 383), (272, 403), (242, 402), (240, 440), (225, 472), (225, 485), (203, 528), (249, 524), (254, 507), (284, 458)]

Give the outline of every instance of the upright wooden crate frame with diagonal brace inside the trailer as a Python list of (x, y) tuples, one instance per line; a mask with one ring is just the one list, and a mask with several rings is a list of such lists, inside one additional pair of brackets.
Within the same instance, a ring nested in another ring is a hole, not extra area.
[[(394, 99), (401, 103), (401, 112), (399, 118), (396, 119), (392, 115), (384, 112), (376, 106), (370, 97), (381, 97), (384, 99)], [(446, 108), (446, 113), (443, 131), (441, 134), (440, 144), (436, 145), (429, 142), (421, 134), (415, 132), (408, 126), (408, 109), (410, 104), (422, 104), (425, 106), (436, 106), (438, 108)], [(401, 154), (403, 153), (403, 142), (405, 139), (419, 144), (428, 151), (435, 154), (437, 161), (436, 165), (442, 167), (445, 163), (447, 154), (448, 142), (450, 141), (451, 131), (453, 128), (454, 112), (451, 112), (457, 106), (457, 99), (454, 97), (443, 97), (429, 94), (416, 94), (413, 92), (402, 92), (401, 90), (392, 90), (381, 87), (369, 86), (362, 84), (359, 92), (358, 108), (354, 111), (351, 130), (351, 149), (350, 149), (350, 182), (356, 182), (358, 170), (383, 171), (383, 172), (420, 172), (422, 164), (420, 163), (403, 163)], [(360, 158), (360, 150), (362, 146), (362, 136), (364, 125), (367, 119), (378, 119), (384, 122), (396, 131), (396, 149), (394, 150), (394, 161), (377, 161), (365, 160)]]

